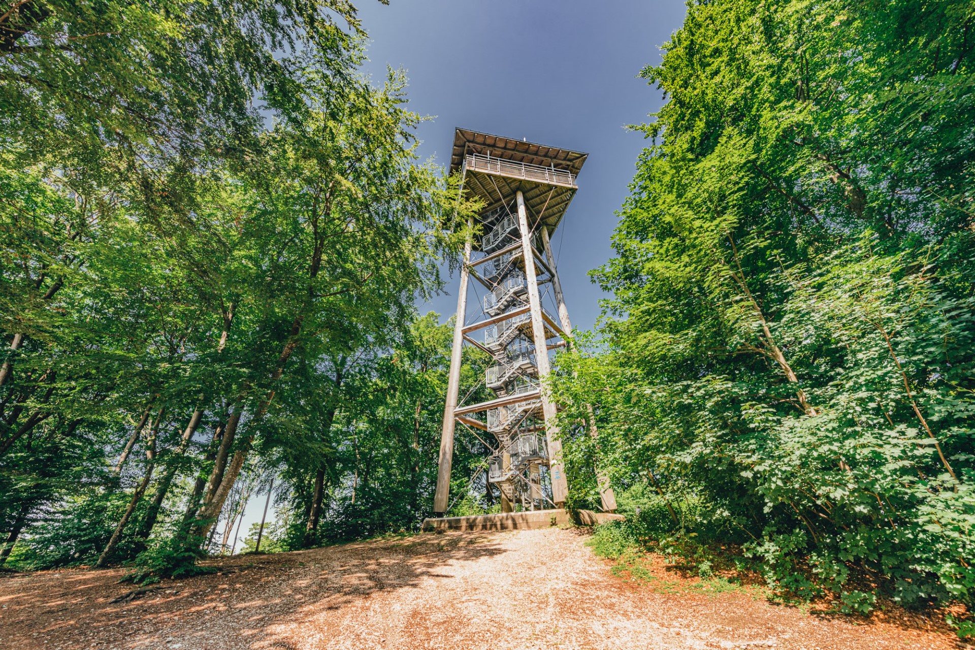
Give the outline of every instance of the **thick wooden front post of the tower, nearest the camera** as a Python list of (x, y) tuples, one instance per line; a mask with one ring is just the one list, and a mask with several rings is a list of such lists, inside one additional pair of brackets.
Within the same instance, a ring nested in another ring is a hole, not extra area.
[[(538, 365), (538, 377), (544, 379), (550, 370), (548, 361), (548, 346), (545, 343), (545, 323), (542, 320), (542, 301), (538, 295), (538, 278), (535, 273), (535, 258), (531, 251), (531, 231), (528, 230), (528, 212), (525, 207), (525, 195), (519, 190), (516, 195), (518, 201), (518, 225), (522, 231), (522, 252), (525, 255), (525, 276), (528, 284), (528, 307), (531, 313), (531, 332), (535, 344), (535, 363)], [(552, 476), (552, 500), (556, 506), (565, 504), (568, 494), (568, 483), (565, 480), (565, 466), (562, 462), (562, 441), (558, 440), (559, 429), (555, 424), (555, 404), (542, 391), (542, 413), (545, 416), (545, 439), (548, 442), (549, 468)]]

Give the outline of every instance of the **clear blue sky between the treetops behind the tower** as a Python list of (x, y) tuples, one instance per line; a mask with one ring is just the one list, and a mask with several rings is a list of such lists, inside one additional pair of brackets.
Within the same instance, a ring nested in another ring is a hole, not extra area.
[[(681, 26), (680, 0), (374, 0), (357, 3), (370, 34), (368, 71), (409, 76), (412, 110), (435, 116), (419, 130), (420, 155), (449, 164), (454, 127), (589, 153), (579, 191), (553, 244), (572, 325), (599, 317), (599, 287), (586, 273), (609, 258), (609, 236), (627, 195), (641, 134), (627, 132), (661, 105), (637, 78), (660, 60)], [(561, 246), (561, 250), (560, 250)], [(450, 295), (420, 306), (445, 319)]]

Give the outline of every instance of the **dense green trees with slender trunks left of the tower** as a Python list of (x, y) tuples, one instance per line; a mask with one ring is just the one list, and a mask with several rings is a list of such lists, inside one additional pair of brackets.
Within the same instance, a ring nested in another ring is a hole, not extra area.
[(354, 8), (27, 2), (0, 38), (0, 561), (186, 570), (268, 493), (265, 548), (415, 527), (452, 327), (414, 303), (471, 207)]

